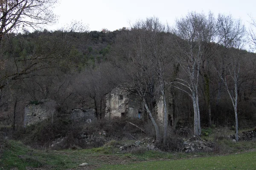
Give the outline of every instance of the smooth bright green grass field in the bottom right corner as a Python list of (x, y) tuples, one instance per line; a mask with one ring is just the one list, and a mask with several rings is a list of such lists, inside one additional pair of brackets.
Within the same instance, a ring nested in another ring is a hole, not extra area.
[(256, 170), (256, 152), (184, 160), (108, 165), (99, 170)]

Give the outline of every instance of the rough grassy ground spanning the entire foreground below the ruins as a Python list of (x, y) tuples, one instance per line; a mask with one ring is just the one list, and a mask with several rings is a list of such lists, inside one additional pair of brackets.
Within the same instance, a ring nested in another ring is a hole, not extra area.
[[(224, 140), (221, 142), (221, 145), (225, 146), (224, 148), (226, 149), (233, 148), (231, 150), (233, 153), (251, 149), (254, 151), (229, 156), (213, 156), (214, 153), (172, 154), (157, 151), (124, 154), (118, 153), (118, 147), (113, 146), (87, 150), (43, 151), (33, 150), (20, 142), (10, 140), (6, 141), (4, 152), (1, 153), (0, 170), (8, 170), (12, 167), (17, 167), (18, 170), (25, 170), (26, 167), (44, 167), (47, 170), (66, 170), (77, 168), (79, 164), (84, 162), (89, 163), (87, 169), (101, 167), (103, 170), (119, 170), (125, 168), (135, 170), (256, 170), (256, 142), (243, 141), (232, 143)], [(224, 148), (221, 149), (223, 150)], [(224, 151), (224, 153), (227, 152)], [(195, 154), (197, 156), (195, 156)]]

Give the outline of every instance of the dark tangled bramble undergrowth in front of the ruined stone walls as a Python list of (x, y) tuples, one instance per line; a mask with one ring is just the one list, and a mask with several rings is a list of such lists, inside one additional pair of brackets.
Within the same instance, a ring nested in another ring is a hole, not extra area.
[[(143, 133), (127, 121), (132, 121), (147, 129)], [(20, 140), (35, 149), (48, 149), (53, 141), (64, 138), (64, 142), (51, 149), (61, 150), (72, 147), (88, 149), (101, 147), (106, 141), (111, 140), (139, 140), (139, 138), (145, 136), (151, 137), (153, 136), (152, 128), (150, 124), (145, 124), (142, 120), (131, 120), (129, 118), (114, 118), (111, 121), (96, 120), (88, 124), (75, 123), (70, 120), (69, 114), (59, 114), (55, 116), (53, 122), (44, 120), (16, 130), (12, 133), (12, 139)], [(104, 136), (102, 136), (103, 132), (105, 133)], [(95, 139), (87, 142), (83, 140), (82, 135), (86, 135), (88, 138), (94, 136)], [(98, 140), (99, 136), (104, 140)]]

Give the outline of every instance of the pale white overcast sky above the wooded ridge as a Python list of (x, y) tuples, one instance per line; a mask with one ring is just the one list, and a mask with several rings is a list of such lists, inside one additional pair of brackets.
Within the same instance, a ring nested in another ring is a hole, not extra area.
[(47, 29), (55, 30), (70, 24), (72, 20), (82, 21), (90, 31), (110, 31), (130, 27), (139, 19), (158, 17), (163, 23), (175, 23), (176, 18), (188, 12), (212, 11), (232, 14), (248, 26), (250, 16), (256, 18), (256, 0), (60, 0), (54, 9), (59, 21)]

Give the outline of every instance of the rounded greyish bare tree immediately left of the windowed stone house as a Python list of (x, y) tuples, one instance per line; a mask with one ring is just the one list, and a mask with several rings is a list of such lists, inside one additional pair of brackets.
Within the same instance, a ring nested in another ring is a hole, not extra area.
[(86, 68), (76, 77), (76, 83), (73, 84), (76, 93), (86, 94), (93, 100), (93, 106), (96, 109), (96, 117), (104, 117), (105, 95), (117, 86), (119, 81), (118, 72), (108, 62), (101, 63), (95, 68)]

